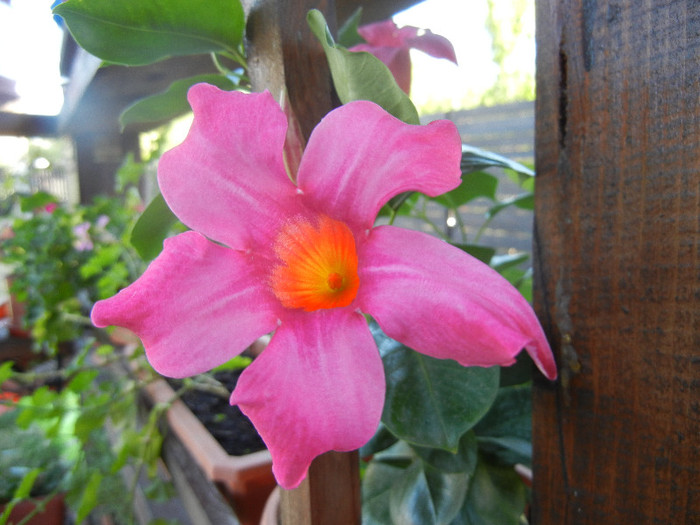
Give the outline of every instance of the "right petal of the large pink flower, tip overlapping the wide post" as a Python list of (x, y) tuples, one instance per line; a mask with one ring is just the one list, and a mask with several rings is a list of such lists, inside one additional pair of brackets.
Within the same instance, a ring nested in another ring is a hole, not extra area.
[(544, 375), (556, 364), (530, 305), (496, 271), (421, 232), (372, 230), (358, 254), (360, 309), (418, 352), (465, 366), (510, 365), (525, 348)]

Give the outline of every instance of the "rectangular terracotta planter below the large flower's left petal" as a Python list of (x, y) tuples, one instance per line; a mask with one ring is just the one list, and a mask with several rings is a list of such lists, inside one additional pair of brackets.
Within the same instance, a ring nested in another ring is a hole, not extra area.
[[(164, 380), (145, 387), (154, 403), (168, 403), (175, 392)], [(267, 450), (230, 456), (199, 419), (179, 399), (166, 414), (167, 423), (202, 471), (230, 501), (241, 525), (257, 524), (270, 492), (276, 486)]]

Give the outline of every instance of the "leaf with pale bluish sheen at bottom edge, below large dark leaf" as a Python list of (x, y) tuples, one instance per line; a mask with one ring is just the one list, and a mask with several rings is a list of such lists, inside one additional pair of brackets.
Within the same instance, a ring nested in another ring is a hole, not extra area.
[(415, 462), (391, 489), (392, 523), (447, 524), (462, 507), (468, 486), (469, 474), (440, 472)]

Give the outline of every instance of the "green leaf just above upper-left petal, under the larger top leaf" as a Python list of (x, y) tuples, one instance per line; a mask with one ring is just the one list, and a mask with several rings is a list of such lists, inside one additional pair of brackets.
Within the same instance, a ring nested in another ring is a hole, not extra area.
[(197, 75), (177, 80), (167, 90), (137, 100), (126, 108), (119, 117), (122, 130), (130, 124), (157, 124), (184, 115), (190, 111), (187, 92), (192, 86), (202, 82), (227, 91), (236, 88), (236, 84), (224, 75)]

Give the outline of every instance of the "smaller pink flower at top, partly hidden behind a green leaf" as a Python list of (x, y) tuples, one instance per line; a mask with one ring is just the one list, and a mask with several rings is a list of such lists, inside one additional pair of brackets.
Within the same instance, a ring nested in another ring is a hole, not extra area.
[(372, 53), (389, 68), (396, 83), (406, 93), (411, 90), (411, 48), (457, 63), (450, 41), (427, 29), (411, 26), (399, 28), (392, 20), (385, 20), (360, 26), (357, 31), (367, 43), (353, 46), (350, 51)]

